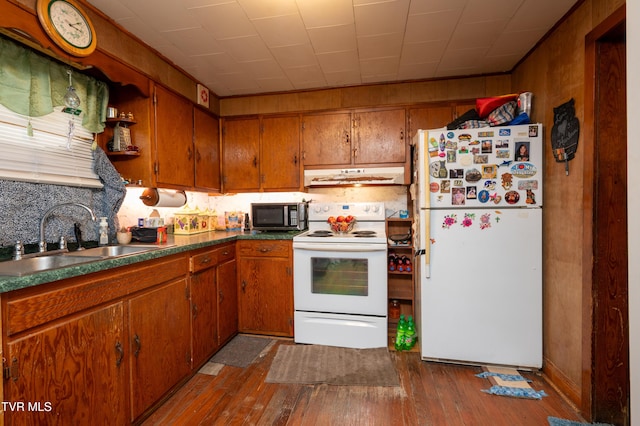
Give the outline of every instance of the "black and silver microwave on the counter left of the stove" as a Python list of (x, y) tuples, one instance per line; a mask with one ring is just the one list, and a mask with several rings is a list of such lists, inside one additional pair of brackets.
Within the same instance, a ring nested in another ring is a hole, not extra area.
[(251, 222), (258, 231), (307, 229), (307, 203), (252, 203)]

